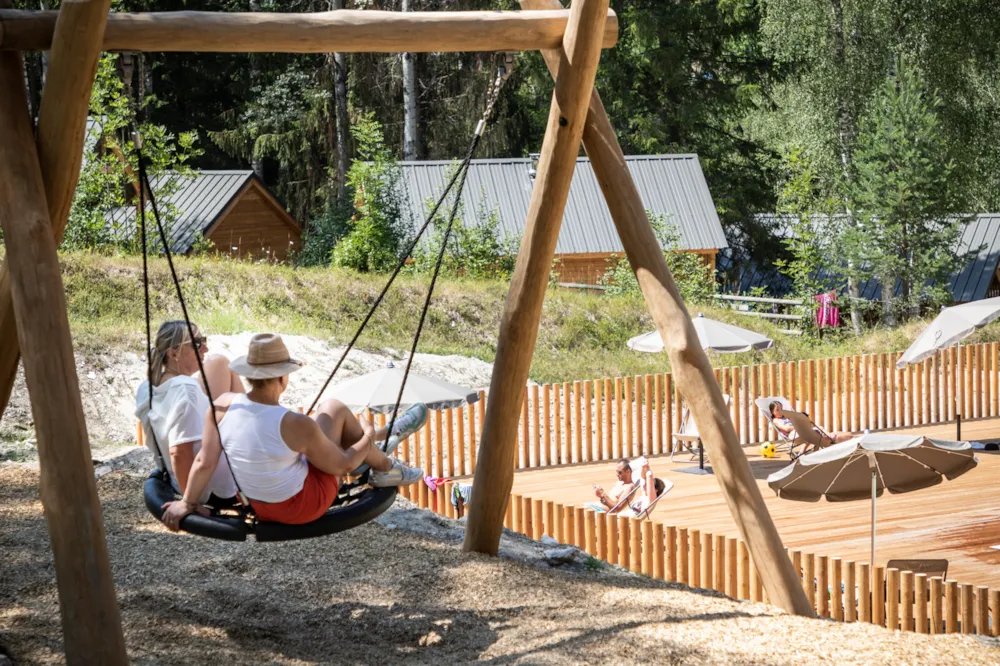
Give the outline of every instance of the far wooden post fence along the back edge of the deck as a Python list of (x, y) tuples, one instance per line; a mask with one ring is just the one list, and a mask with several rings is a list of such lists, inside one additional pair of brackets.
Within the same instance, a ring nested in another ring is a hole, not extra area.
[[(781, 395), (830, 431), (859, 432), (943, 423), (955, 419), (959, 389), (965, 419), (1000, 416), (1000, 345), (961, 347), (908, 366), (898, 353), (866, 354), (716, 369), (732, 397), (730, 416), (740, 442), (776, 435), (754, 404)], [(431, 412), (400, 456), (428, 474), (472, 474), (488, 396), (465, 407)], [(684, 402), (670, 373), (531, 385), (521, 406), (518, 469), (617, 460), (668, 453)]]

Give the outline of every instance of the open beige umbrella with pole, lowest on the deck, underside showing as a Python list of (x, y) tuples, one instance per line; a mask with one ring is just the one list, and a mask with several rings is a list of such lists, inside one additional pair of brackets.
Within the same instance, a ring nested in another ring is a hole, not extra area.
[(778, 497), (801, 502), (872, 500), (871, 565), (875, 566), (875, 498), (954, 479), (978, 464), (968, 442), (921, 435), (866, 434), (800, 456), (767, 477)]

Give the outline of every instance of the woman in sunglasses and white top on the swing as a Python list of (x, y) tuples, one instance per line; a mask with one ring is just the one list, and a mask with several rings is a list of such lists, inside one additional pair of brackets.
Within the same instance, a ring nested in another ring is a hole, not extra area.
[[(208, 344), (198, 327), (192, 324), (194, 338), (184, 321), (166, 321), (156, 334), (150, 360), (153, 402), (149, 401), (149, 382), (136, 391), (135, 415), (142, 422), (146, 446), (153, 457), (163, 461), (174, 490), (183, 493), (195, 456), (201, 449), (205, 413), (209, 408), (208, 391), (198, 369), (201, 359), (213, 396), (245, 393), (239, 375), (229, 369), (229, 360), (218, 354), (208, 355)], [(159, 455), (154, 447), (159, 447)], [(158, 463), (159, 464), (159, 463)], [(214, 498), (212, 496), (215, 496)], [(236, 496), (236, 484), (229, 469), (220, 465), (200, 498), (203, 503), (220, 503)]]

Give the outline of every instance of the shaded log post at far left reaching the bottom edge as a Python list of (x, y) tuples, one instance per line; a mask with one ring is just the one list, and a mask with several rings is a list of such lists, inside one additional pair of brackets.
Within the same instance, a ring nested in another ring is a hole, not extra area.
[[(66, 6), (65, 4), (63, 5)], [(19, 55), (0, 54), (0, 225), (70, 664), (125, 664), (59, 258)]]

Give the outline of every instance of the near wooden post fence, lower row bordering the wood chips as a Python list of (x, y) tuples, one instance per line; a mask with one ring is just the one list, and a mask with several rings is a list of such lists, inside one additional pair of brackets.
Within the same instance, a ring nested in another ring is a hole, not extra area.
[[(421, 483), (401, 489), (421, 508), (457, 518), (453, 482), (430, 493)], [(543, 534), (635, 573), (733, 599), (766, 602), (746, 544), (736, 538), (609, 516), (592, 509), (511, 495), (504, 526), (532, 539)], [(822, 617), (868, 622), (917, 633), (1000, 635), (1000, 590), (867, 563), (789, 550), (806, 596)]]

